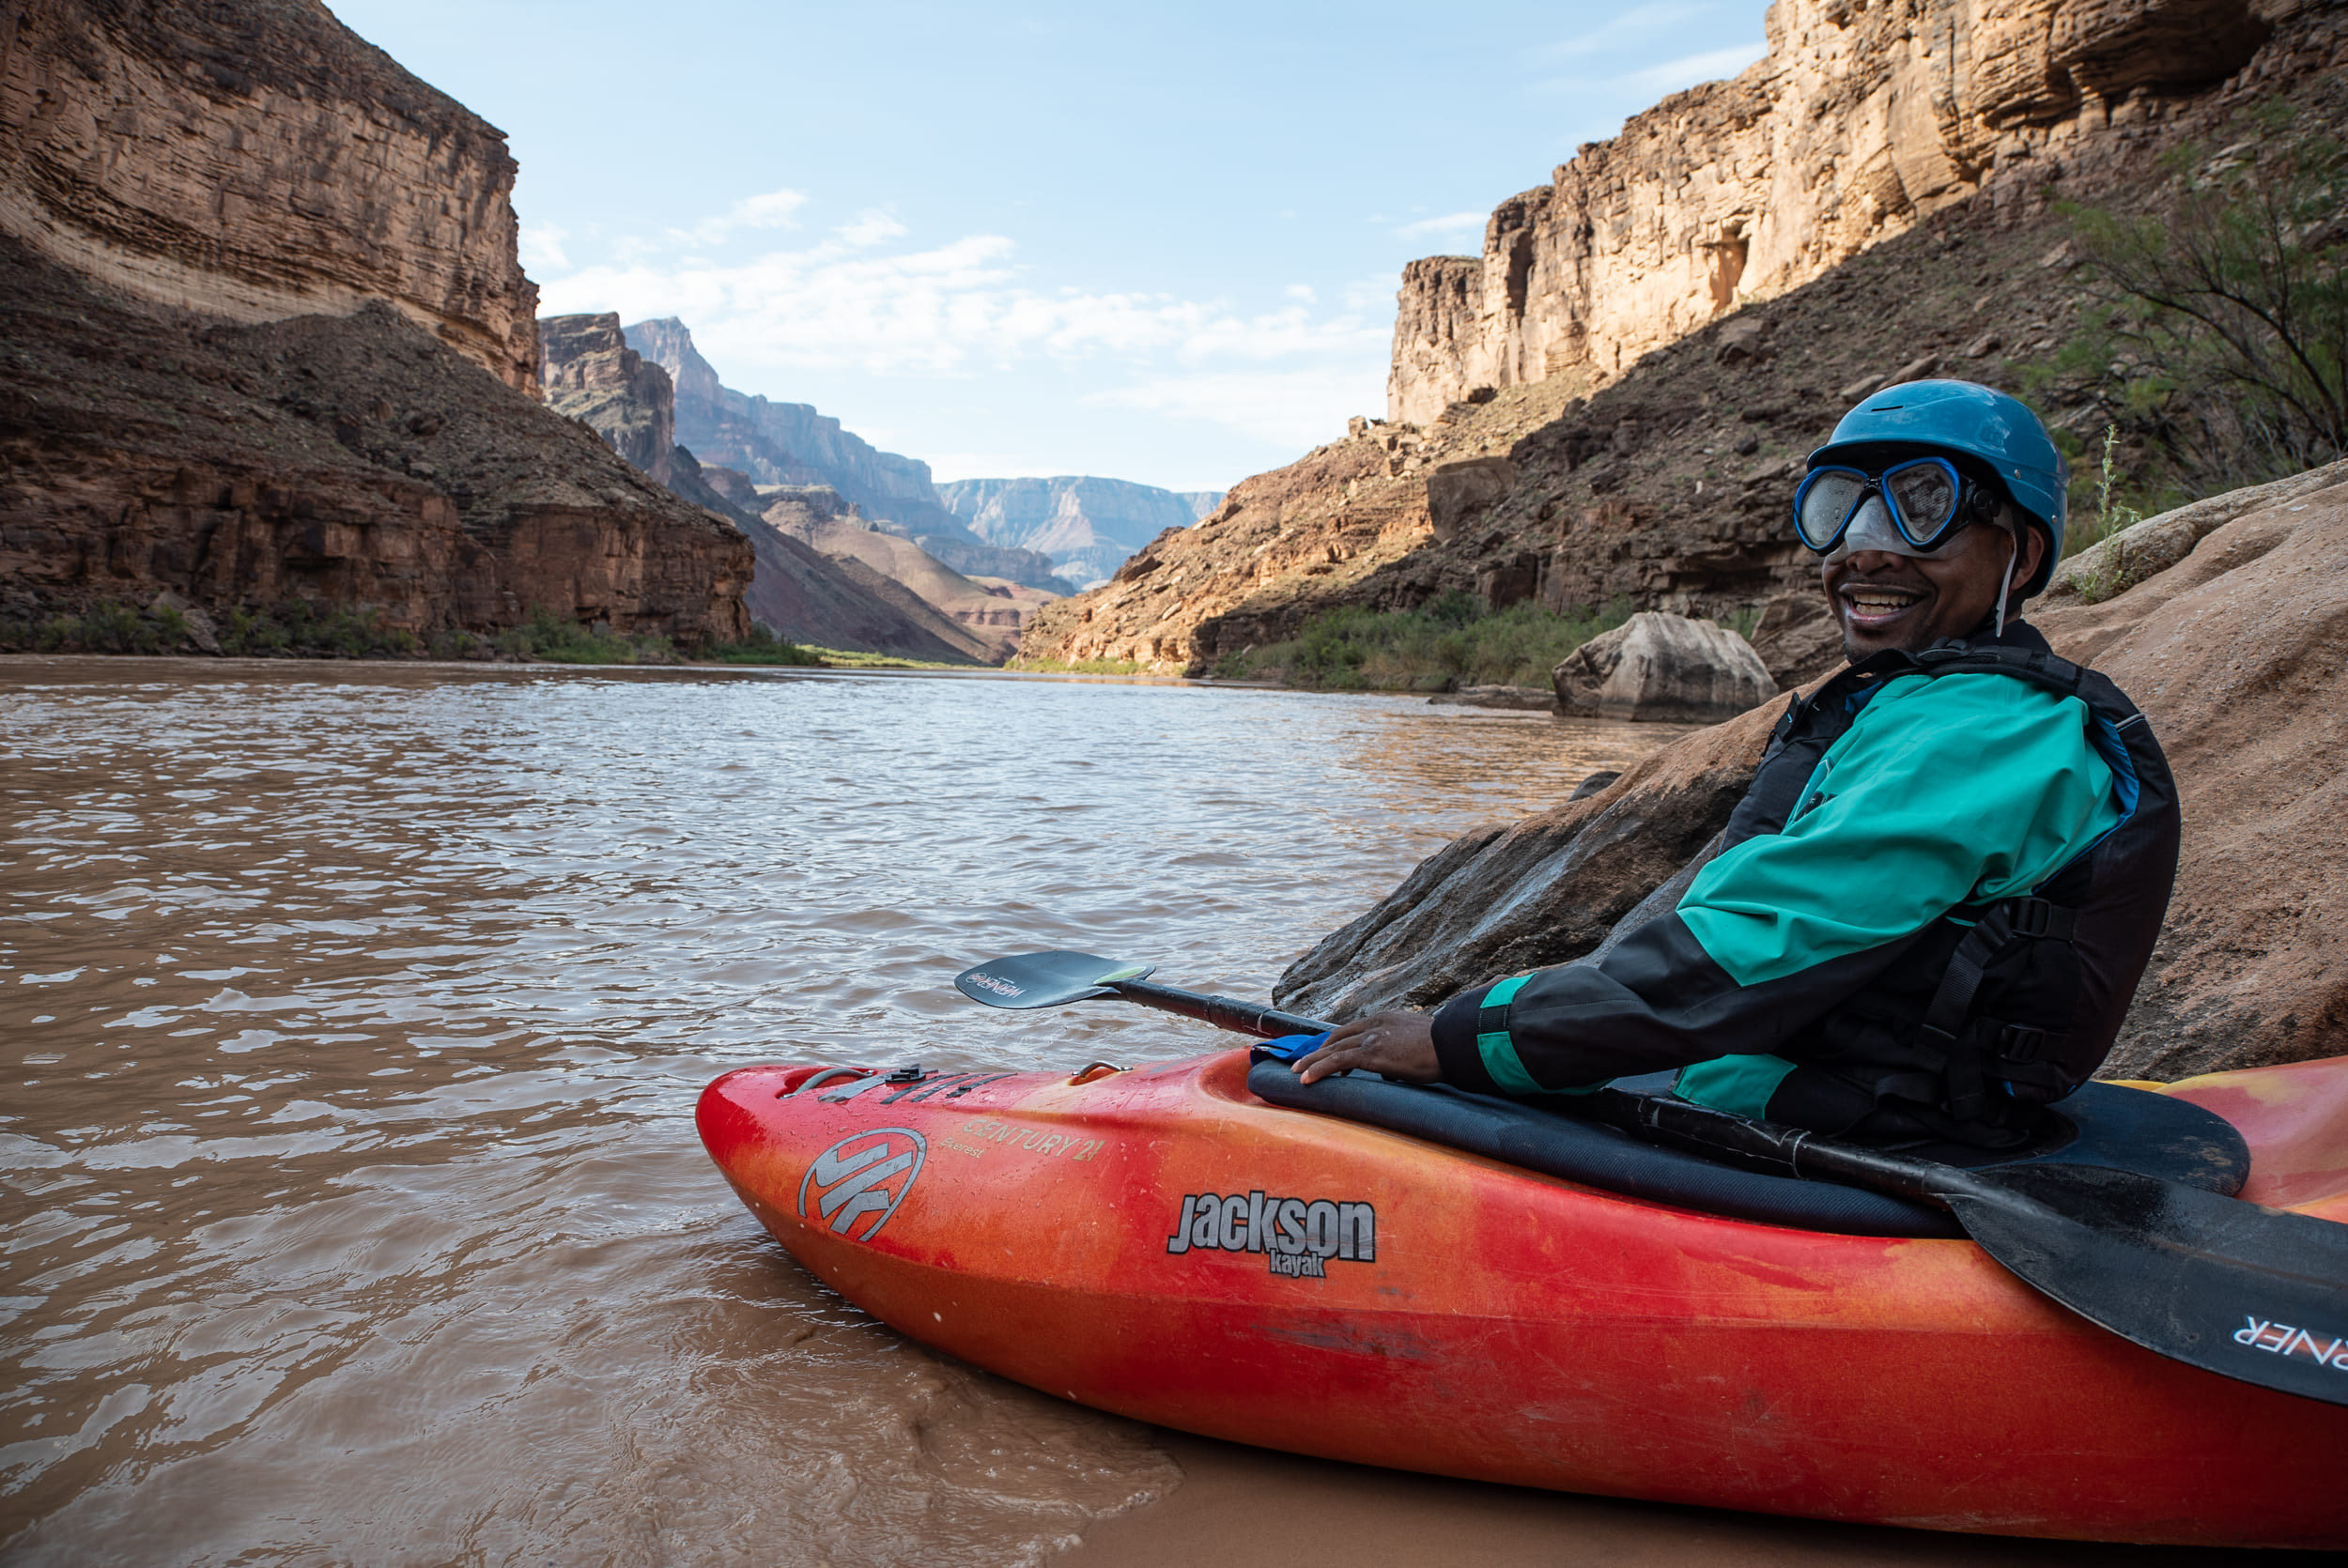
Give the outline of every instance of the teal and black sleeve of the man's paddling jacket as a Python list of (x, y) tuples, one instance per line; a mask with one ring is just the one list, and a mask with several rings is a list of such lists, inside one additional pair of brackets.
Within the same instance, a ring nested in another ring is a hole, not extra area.
[(1958, 904), (2054, 876), (2120, 822), (2085, 704), (1996, 674), (1885, 685), (1782, 833), (1707, 864), (1679, 908), (1435, 1014), (1444, 1082), (1559, 1094), (1761, 1054), (1867, 986)]

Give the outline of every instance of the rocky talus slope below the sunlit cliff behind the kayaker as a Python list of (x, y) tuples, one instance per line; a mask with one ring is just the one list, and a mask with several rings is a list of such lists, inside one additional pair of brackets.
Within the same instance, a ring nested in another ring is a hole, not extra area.
[[(2146, 73), (2174, 33), (2116, 21), (2106, 38), (2113, 49), (2134, 38), (2127, 70)], [(2256, 134), (2252, 110), (2266, 99), (2339, 134), (2343, 68), (2348, 7), (2275, 12), (2273, 33), (2226, 82), (2137, 89), (2106, 106), (2109, 122), (2064, 110), (2071, 120), (2057, 124), (2078, 136), (2059, 155), (1998, 162), (1970, 195), (1902, 218), (1904, 230), (1885, 228), (1810, 282), (1681, 331), (1604, 385), (1587, 364), (1510, 378), (1484, 361), (1423, 423), (1357, 420), (1343, 441), (1235, 486), (1207, 523), (1160, 535), (1111, 584), (1045, 606), (1021, 650), (1202, 674), (1226, 653), (1296, 636), (1320, 610), (1411, 608), (1449, 589), (1493, 608), (1627, 599), (1686, 615), (1784, 610), (1787, 594), (1817, 592), (1815, 566), (1792, 545), (1787, 502), (1803, 455), (1853, 401), (1918, 376), (2012, 390), (2022, 364), (2052, 357), (2078, 331), (2085, 279), (2052, 202), (2125, 200), (2163, 176), (2167, 150)], [(1653, 155), (1676, 157), (1669, 146)], [(1860, 200), (1846, 188), (1846, 202)], [(1477, 268), (1413, 263), (1411, 289), (1465, 300), (1482, 286)], [(1406, 324), (1409, 291), (1404, 305)], [(1475, 338), (1463, 333), (1451, 340)], [(2092, 404), (2069, 415), (2083, 420), (2071, 430), (2083, 444), (2101, 439)], [(1801, 615), (1775, 615), (1770, 627), (1787, 664), (1773, 674), (1815, 674), (1815, 627), (1806, 631)]]

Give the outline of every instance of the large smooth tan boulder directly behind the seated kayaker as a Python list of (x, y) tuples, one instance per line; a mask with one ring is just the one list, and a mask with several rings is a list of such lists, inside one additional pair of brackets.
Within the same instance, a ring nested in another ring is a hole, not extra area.
[[(2177, 770), (2184, 861), (2109, 1077), (2348, 1054), (2348, 462), (2153, 519), (2172, 563), (2033, 613), (2054, 648), (2151, 716)], [(1428, 1007), (1601, 948), (1669, 906), (1784, 699), (1698, 730), (1611, 786), (1465, 833), (1282, 976), (1282, 1007)]]

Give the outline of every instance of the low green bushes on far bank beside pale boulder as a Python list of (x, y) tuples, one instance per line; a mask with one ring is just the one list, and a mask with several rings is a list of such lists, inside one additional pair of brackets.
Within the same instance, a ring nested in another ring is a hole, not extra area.
[(1315, 615), (1294, 641), (1226, 653), (1226, 681), (1280, 678), (1308, 690), (1442, 692), (1460, 685), (1547, 685), (1550, 669), (1599, 631), (1630, 620), (1627, 599), (1564, 615), (1533, 603), (1486, 610), (1449, 592), (1416, 610), (1345, 606)]

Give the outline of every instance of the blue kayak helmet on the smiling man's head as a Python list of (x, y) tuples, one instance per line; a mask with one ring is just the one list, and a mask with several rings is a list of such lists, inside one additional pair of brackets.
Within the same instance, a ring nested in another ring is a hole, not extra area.
[(2062, 530), (2071, 514), (2071, 465), (2054, 437), (2019, 399), (1972, 380), (1909, 380), (1862, 397), (1834, 437), (1810, 453), (1810, 465), (1874, 467), (1869, 448), (1918, 448), (1977, 458), (2005, 486), (2015, 509), (2047, 535), (2045, 561), (2024, 584), (2029, 599), (2054, 575)]

